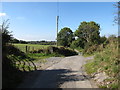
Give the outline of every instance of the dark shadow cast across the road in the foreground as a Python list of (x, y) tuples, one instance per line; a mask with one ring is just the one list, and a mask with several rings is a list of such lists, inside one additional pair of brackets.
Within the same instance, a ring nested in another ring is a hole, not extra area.
[(75, 72), (67, 69), (35, 70), (29, 72), (19, 88), (58, 88), (64, 82), (88, 80), (84, 75), (71, 75)]

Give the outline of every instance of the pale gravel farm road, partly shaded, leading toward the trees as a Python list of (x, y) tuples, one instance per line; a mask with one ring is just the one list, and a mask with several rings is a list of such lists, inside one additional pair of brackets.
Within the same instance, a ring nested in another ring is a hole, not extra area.
[(53, 62), (49, 67), (32, 72), (18, 88), (97, 88), (83, 68), (91, 58), (79, 55), (49, 58)]

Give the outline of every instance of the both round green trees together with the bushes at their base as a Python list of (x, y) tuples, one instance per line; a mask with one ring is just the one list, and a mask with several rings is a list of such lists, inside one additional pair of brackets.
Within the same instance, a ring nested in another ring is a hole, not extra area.
[(68, 27), (62, 28), (58, 33), (57, 41), (58, 45), (73, 49), (88, 49), (93, 45), (108, 43), (107, 37), (100, 36), (100, 25), (94, 21), (81, 22), (75, 32)]

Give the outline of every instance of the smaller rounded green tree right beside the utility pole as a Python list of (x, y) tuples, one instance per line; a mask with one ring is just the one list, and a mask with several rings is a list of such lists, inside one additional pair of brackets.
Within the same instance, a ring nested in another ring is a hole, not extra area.
[(72, 41), (74, 40), (72, 30), (68, 27), (64, 27), (58, 33), (57, 40), (58, 40), (58, 45), (69, 47)]

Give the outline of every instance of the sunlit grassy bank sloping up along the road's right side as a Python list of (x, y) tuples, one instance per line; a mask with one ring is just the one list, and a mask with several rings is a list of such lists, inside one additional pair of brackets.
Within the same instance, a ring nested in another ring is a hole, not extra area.
[(101, 88), (118, 88), (120, 60), (118, 55), (118, 41), (110, 40), (110, 43), (102, 51), (95, 54), (94, 60), (85, 65), (88, 74), (105, 72), (110, 78), (104, 82), (110, 82), (108, 85), (100, 86)]

